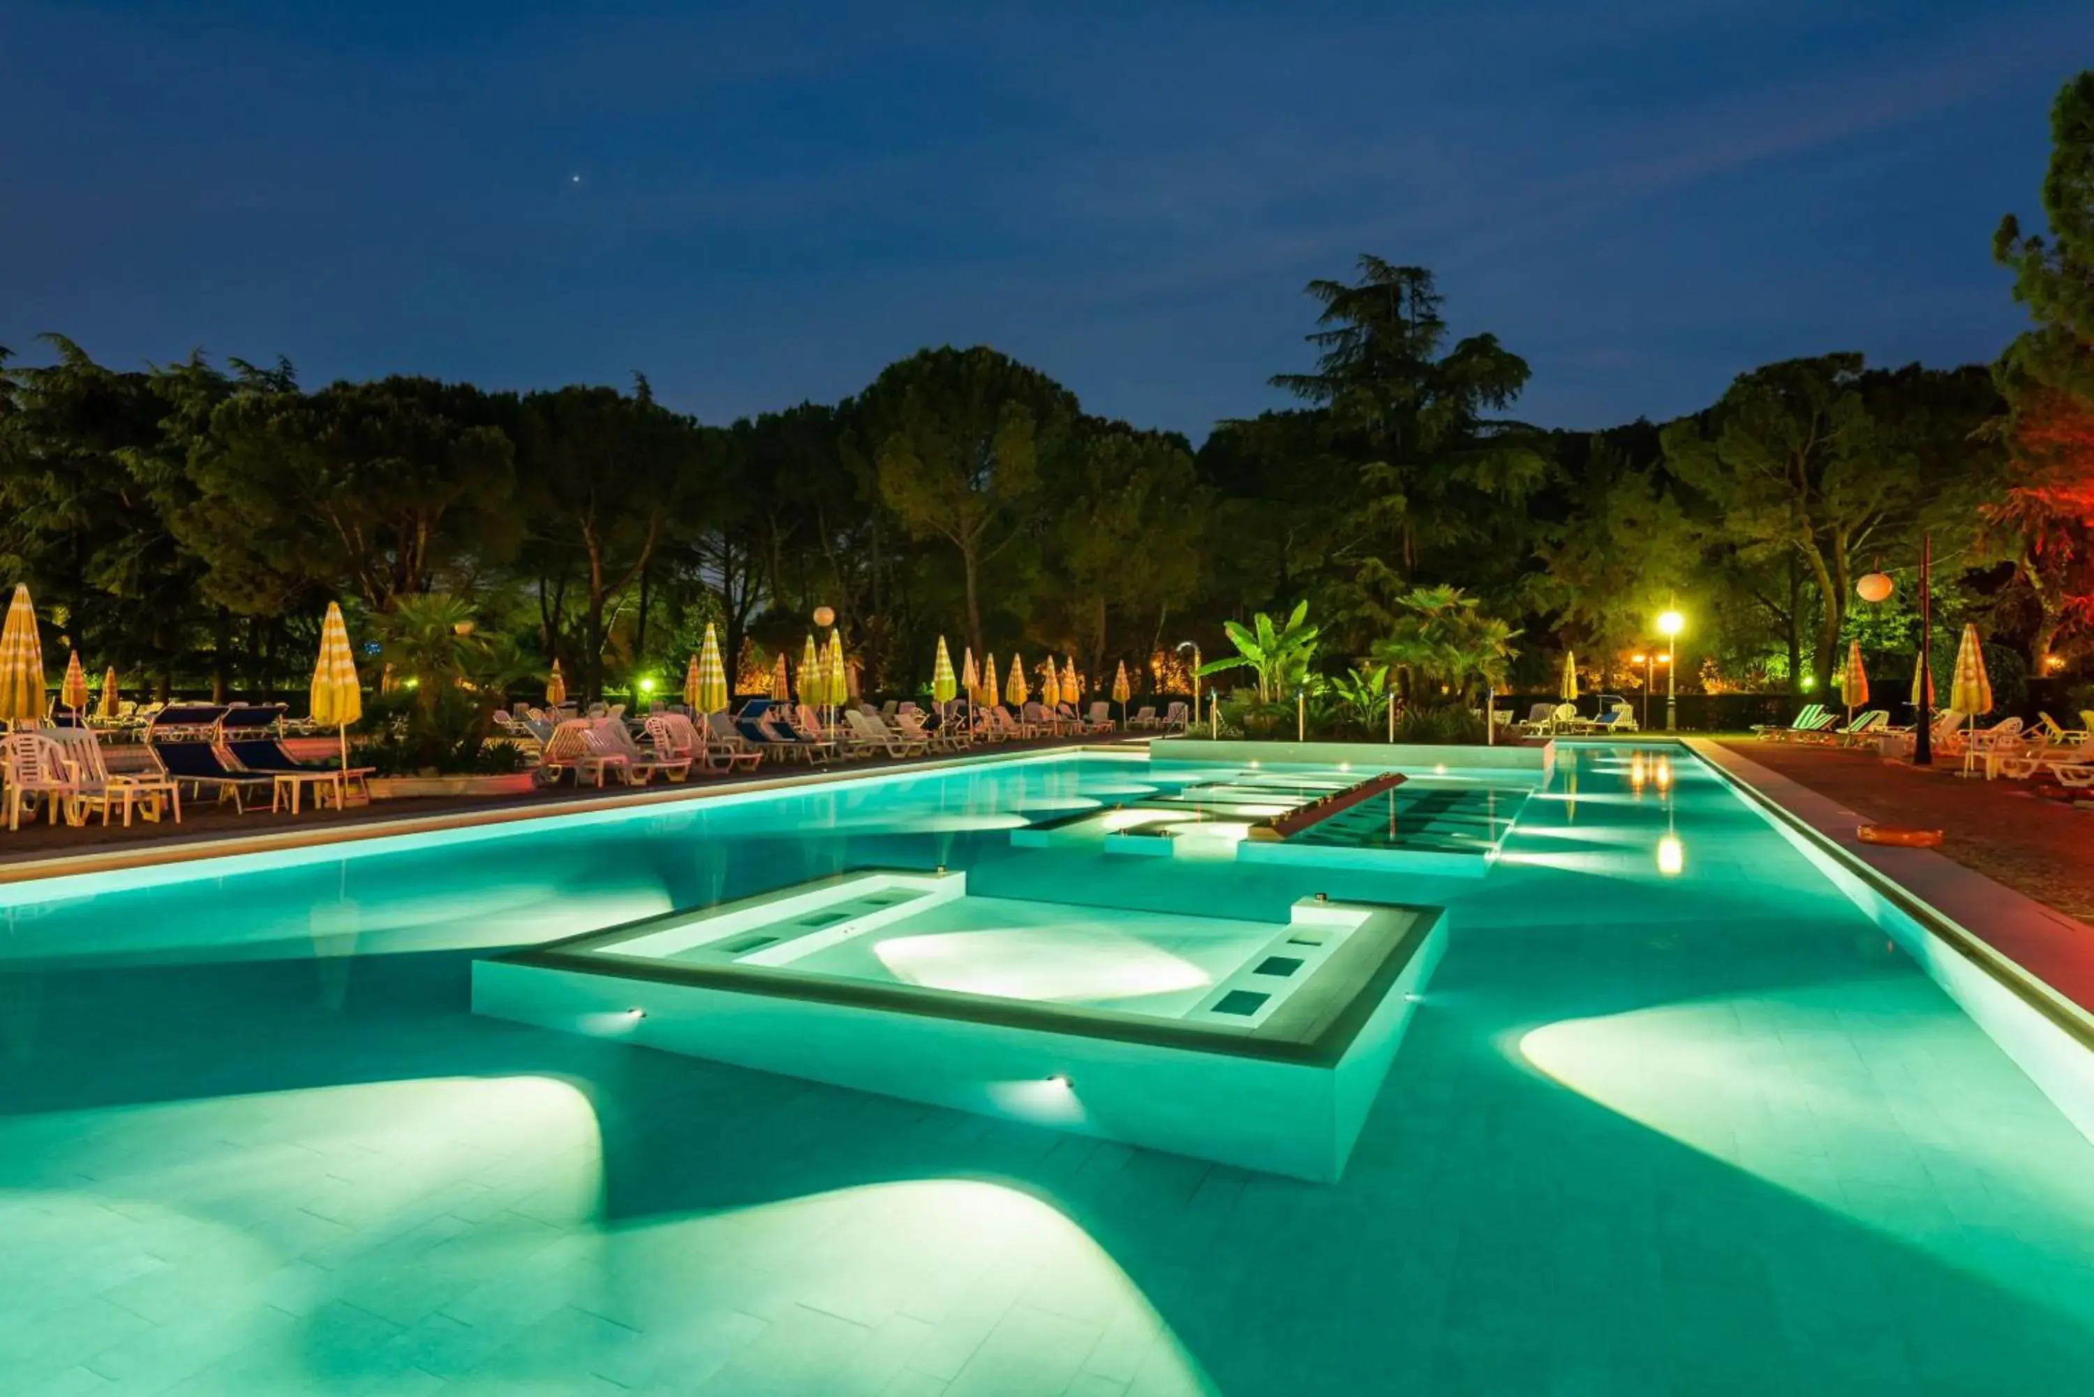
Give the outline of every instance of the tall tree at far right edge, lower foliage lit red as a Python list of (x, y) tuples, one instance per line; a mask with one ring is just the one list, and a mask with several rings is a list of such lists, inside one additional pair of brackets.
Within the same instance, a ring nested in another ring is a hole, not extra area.
[(2037, 603), (2037, 672), (2060, 630), (2094, 626), (2094, 71), (2058, 92), (2050, 136), (2050, 237), (2023, 235), (2012, 214), (1993, 237), (2035, 320), (1993, 367), (2012, 480), (1991, 519), (2014, 540), (2017, 576)]

